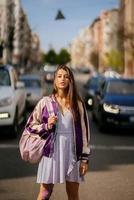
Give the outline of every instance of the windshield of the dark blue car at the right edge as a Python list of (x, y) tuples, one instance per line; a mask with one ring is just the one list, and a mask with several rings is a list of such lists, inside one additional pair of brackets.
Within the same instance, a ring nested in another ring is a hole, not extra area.
[(115, 81), (109, 82), (107, 93), (134, 95), (134, 82)]

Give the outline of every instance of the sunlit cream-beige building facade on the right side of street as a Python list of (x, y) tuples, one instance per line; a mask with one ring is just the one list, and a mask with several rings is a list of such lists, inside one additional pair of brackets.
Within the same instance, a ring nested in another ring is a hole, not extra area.
[(99, 53), (99, 71), (103, 72), (107, 67), (106, 60), (112, 51), (120, 51), (119, 45), (119, 11), (112, 9), (103, 11), (100, 14), (101, 23), (101, 38), (100, 38), (100, 53)]

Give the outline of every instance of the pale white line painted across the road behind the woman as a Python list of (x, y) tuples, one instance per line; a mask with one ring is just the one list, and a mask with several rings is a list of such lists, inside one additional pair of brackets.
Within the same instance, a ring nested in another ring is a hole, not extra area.
[[(18, 149), (18, 144), (0, 144), (0, 149)], [(91, 145), (93, 150), (134, 151), (134, 146)]]

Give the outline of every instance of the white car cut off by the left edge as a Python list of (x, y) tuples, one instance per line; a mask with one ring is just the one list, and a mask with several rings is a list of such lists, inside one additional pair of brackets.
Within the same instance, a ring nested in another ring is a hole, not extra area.
[(0, 66), (0, 126), (11, 126), (12, 136), (17, 135), (18, 125), (24, 119), (26, 90), (18, 81), (15, 69), (10, 65)]

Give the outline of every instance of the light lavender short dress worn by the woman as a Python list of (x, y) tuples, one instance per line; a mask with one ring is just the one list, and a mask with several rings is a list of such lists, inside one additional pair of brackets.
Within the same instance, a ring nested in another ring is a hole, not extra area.
[(37, 183), (81, 182), (79, 164), (74, 154), (74, 134), (72, 113), (67, 109), (64, 115), (59, 111), (54, 154), (43, 156), (38, 167)]

